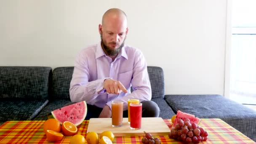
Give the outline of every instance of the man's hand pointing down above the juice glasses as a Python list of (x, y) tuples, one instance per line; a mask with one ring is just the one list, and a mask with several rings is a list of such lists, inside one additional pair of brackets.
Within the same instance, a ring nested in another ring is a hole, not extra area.
[(107, 93), (120, 94), (122, 91), (127, 93), (128, 91), (120, 81), (113, 79), (106, 79), (103, 83), (103, 88), (107, 90)]

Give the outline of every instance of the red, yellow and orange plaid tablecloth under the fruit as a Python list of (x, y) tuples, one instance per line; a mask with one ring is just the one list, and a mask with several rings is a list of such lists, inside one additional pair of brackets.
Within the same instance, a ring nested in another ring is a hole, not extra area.
[[(171, 128), (170, 120), (164, 120)], [(0, 125), (0, 144), (53, 144), (47, 141), (43, 132), (43, 120), (34, 121), (8, 121)], [(78, 128), (78, 134), (86, 137), (88, 120), (85, 120)], [(208, 140), (200, 144), (256, 144), (235, 128), (221, 119), (202, 119), (200, 126), (208, 131)], [(54, 144), (69, 144), (72, 136), (64, 136), (61, 141)], [(162, 144), (182, 144), (180, 141), (169, 139), (168, 136), (154, 136), (162, 141)], [(141, 144), (143, 136), (119, 136), (115, 137), (114, 144)]]

